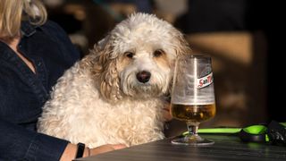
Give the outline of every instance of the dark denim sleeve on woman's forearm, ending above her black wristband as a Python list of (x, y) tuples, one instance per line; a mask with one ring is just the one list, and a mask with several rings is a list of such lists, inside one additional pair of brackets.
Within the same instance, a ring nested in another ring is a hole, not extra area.
[(0, 160), (59, 160), (67, 140), (60, 140), (0, 118)]

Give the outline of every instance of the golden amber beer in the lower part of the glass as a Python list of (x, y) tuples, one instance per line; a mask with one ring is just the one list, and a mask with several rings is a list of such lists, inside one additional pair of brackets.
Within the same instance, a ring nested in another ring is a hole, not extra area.
[(201, 123), (214, 117), (215, 105), (172, 104), (171, 112), (172, 117), (175, 119), (185, 122)]

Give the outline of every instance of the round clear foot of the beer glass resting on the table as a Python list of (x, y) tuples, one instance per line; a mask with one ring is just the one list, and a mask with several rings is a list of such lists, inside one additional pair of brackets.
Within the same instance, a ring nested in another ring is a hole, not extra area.
[(171, 142), (172, 144), (190, 145), (190, 146), (207, 146), (214, 144), (213, 140), (206, 140), (198, 135), (187, 135), (183, 138), (173, 139)]

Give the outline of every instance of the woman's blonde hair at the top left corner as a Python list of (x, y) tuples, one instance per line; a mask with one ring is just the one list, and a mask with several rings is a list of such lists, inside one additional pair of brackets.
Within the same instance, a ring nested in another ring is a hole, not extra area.
[(44, 4), (39, 0), (0, 0), (0, 38), (17, 36), (23, 20), (29, 20), (34, 25), (44, 24)]

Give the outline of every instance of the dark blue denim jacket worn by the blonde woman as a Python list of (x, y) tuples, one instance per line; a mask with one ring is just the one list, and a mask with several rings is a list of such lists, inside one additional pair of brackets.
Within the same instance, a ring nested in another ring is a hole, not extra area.
[(36, 73), (0, 41), (0, 160), (59, 160), (68, 141), (37, 133), (49, 92), (80, 53), (55, 22), (21, 23), (18, 49)]

